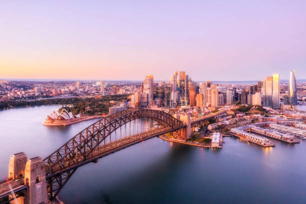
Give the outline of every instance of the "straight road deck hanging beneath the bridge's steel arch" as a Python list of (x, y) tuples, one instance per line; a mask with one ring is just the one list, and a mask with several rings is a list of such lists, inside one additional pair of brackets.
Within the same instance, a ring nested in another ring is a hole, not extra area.
[[(49, 172), (49, 165), (45, 164), (46, 179), (53, 177), (54, 175), (61, 174), (65, 171), (69, 171), (73, 168), (77, 168), (86, 163), (93, 162), (98, 158), (114, 153), (118, 150), (131, 146), (133, 144), (139, 143), (143, 140), (146, 140), (146, 139), (149, 139), (155, 136), (159, 136), (161, 134), (165, 134), (167, 132), (171, 132), (174, 130), (176, 129), (170, 128), (170, 127), (161, 127), (161, 128), (154, 128), (154, 129), (151, 129), (145, 132), (141, 132), (138, 134), (134, 134), (131, 136), (127, 136), (122, 139), (117, 138), (117, 140), (112, 141), (111, 143), (110, 142), (106, 143), (105, 145), (99, 146), (98, 148), (95, 148), (94, 150), (92, 150), (92, 152), (90, 153), (90, 156), (86, 157), (86, 160), (84, 160), (81, 154), (75, 155), (74, 158), (64, 159), (60, 164), (52, 166), (52, 171), (53, 171), (52, 173)], [(77, 163), (77, 164), (73, 165), (73, 163)], [(69, 167), (62, 169), (62, 165), (69, 166)]]

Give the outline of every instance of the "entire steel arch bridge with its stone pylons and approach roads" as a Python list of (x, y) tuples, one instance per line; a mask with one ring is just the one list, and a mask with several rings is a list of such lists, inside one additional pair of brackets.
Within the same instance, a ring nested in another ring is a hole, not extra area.
[[(14, 203), (14, 197), (18, 203), (48, 203), (79, 166), (165, 133), (186, 139), (190, 125), (221, 114), (224, 112), (181, 120), (160, 110), (143, 108), (108, 115), (81, 130), (44, 159), (39, 156), (27, 159), (23, 152), (13, 154), (8, 181), (0, 181), (0, 203)], [(154, 125), (143, 128), (140, 122), (143, 119)]]

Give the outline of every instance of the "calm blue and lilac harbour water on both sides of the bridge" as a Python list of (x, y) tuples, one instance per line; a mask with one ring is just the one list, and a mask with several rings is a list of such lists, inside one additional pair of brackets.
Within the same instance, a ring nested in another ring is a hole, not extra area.
[[(44, 158), (95, 120), (42, 125), (60, 105), (0, 111), (0, 177), (9, 157)], [(96, 119), (97, 120), (97, 119)], [(306, 203), (306, 141), (261, 147), (225, 137), (204, 149), (158, 137), (79, 167), (59, 193), (68, 203)]]

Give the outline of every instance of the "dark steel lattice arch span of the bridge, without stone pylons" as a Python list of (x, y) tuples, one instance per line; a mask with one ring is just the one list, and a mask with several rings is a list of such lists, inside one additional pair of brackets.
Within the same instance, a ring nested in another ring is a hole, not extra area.
[[(105, 140), (111, 137), (112, 132), (138, 118), (151, 118), (160, 125), (160, 128), (142, 132), (137, 137), (135, 135), (126, 138), (126, 141), (121, 141), (119, 146), (111, 142), (111, 139), (106, 144)], [(53, 199), (58, 194), (77, 167), (143, 139), (176, 131), (184, 126), (172, 115), (153, 109), (123, 110), (94, 122), (43, 159), (49, 199)]]

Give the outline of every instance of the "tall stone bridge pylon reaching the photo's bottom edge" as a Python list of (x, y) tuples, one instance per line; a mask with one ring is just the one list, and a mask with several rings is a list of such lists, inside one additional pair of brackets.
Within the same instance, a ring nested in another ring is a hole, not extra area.
[(28, 183), (28, 203), (47, 203), (45, 169), (40, 157), (27, 160), (24, 174), (25, 183)]

